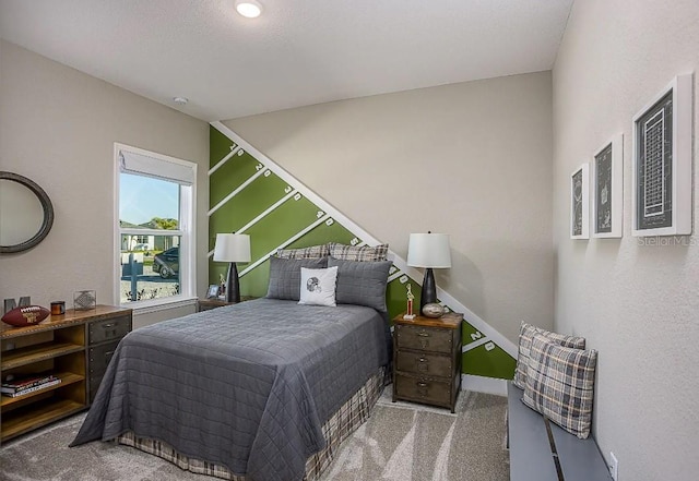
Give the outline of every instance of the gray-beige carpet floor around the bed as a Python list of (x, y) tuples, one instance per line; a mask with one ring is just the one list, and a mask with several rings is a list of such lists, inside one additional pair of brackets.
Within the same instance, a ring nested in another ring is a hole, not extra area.
[[(507, 398), (462, 392), (457, 413), (391, 402), (390, 386), (371, 418), (347, 438), (321, 481), (509, 481)], [(84, 414), (0, 448), (2, 481), (203, 481), (155, 456), (114, 443), (69, 448)]]

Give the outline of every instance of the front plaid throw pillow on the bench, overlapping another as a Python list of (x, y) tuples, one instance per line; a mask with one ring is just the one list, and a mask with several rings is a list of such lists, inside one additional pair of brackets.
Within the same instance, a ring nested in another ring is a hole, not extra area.
[(596, 364), (597, 351), (562, 347), (535, 334), (522, 402), (569, 433), (587, 438)]

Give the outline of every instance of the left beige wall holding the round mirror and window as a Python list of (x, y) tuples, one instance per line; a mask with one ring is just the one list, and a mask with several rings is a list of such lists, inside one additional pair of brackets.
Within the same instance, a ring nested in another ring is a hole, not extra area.
[(209, 125), (7, 41), (0, 43), (0, 170), (37, 182), (56, 213), (40, 244), (0, 256), (0, 299), (31, 296), (42, 305), (66, 300), (70, 306), (73, 291), (95, 289), (97, 302), (118, 302), (111, 277), (114, 142), (201, 166), (197, 286), (204, 292)]

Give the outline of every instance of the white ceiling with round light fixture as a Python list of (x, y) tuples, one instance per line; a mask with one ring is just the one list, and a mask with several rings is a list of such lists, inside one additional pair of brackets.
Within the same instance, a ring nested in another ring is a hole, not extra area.
[(258, 1), (0, 0), (0, 35), (213, 121), (549, 70), (573, 2)]

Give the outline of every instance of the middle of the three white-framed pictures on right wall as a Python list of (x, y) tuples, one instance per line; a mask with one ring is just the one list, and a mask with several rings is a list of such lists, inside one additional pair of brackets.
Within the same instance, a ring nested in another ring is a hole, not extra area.
[(623, 236), (624, 134), (617, 134), (592, 160), (592, 237)]

